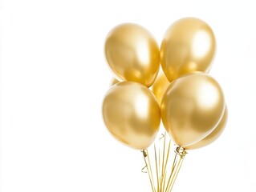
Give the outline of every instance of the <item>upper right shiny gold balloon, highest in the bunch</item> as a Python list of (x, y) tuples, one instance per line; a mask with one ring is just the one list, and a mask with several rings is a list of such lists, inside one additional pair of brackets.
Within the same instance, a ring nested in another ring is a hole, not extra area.
[(215, 38), (209, 25), (198, 18), (174, 22), (161, 43), (161, 65), (171, 80), (193, 71), (208, 72), (215, 53)]

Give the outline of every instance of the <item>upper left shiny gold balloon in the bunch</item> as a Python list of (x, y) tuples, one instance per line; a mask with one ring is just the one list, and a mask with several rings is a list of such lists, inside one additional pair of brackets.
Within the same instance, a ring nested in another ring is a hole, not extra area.
[(142, 26), (116, 26), (105, 42), (108, 65), (118, 78), (152, 86), (160, 68), (159, 47)]

